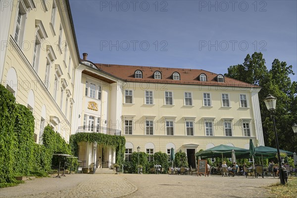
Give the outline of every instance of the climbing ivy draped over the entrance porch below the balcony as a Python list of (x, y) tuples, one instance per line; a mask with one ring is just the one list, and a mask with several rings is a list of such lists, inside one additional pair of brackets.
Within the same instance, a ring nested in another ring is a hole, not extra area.
[(122, 167), (125, 155), (126, 140), (123, 136), (112, 136), (101, 133), (76, 133), (70, 136), (70, 147), (75, 156), (78, 156), (78, 143), (89, 142), (102, 145), (103, 147), (111, 147), (115, 149), (115, 161)]

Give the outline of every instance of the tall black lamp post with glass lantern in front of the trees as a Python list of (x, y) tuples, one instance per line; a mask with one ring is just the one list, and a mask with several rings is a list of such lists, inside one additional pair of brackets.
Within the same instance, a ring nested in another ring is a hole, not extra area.
[(283, 169), (282, 164), (281, 164), (280, 148), (279, 148), (279, 143), (278, 143), (278, 139), (277, 139), (275, 120), (274, 120), (274, 110), (276, 109), (276, 98), (273, 97), (271, 94), (269, 94), (266, 97), (266, 99), (264, 99), (264, 102), (266, 104), (267, 109), (272, 112), (271, 113), (271, 118), (272, 118), (272, 122), (273, 122), (273, 131), (274, 131), (274, 135), (275, 135), (275, 143), (276, 143), (276, 148), (277, 148), (280, 180), (281, 180), (281, 184), (286, 184), (284, 169)]

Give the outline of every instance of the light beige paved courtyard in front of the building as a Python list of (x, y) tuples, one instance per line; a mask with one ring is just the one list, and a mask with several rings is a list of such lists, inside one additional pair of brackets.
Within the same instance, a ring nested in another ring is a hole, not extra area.
[(268, 198), (277, 178), (190, 175), (73, 174), (0, 189), (0, 198)]

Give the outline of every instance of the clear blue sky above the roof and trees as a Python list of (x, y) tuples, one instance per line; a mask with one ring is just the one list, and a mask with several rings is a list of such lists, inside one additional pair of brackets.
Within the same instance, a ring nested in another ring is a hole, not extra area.
[[(296, 0), (70, 0), (80, 55), (95, 63), (226, 73), (262, 52), (297, 74)], [(290, 76), (297, 81), (297, 75)]]

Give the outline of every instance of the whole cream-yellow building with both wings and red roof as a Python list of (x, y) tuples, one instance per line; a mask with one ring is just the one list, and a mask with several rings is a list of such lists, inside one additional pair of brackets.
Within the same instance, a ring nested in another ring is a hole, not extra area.
[[(80, 132), (123, 135), (132, 152), (195, 153), (220, 144), (264, 146), (260, 87), (198, 70), (94, 64), (78, 52), (68, 0), (1, 1), (0, 81), (69, 143)], [(79, 144), (81, 166), (110, 166), (115, 150)], [(105, 163), (106, 162), (106, 163)]]

